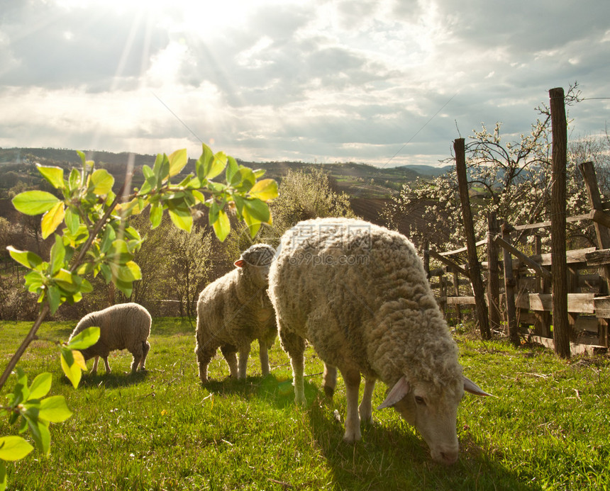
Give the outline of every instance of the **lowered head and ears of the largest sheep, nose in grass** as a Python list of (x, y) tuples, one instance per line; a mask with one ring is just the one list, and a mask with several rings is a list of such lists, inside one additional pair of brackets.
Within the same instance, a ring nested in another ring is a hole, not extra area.
[(449, 465), (457, 461), (457, 405), (465, 390), (476, 395), (489, 395), (464, 376), (445, 385), (443, 390), (430, 383), (410, 383), (403, 376), (379, 409), (394, 406), (423, 436), (432, 458)]

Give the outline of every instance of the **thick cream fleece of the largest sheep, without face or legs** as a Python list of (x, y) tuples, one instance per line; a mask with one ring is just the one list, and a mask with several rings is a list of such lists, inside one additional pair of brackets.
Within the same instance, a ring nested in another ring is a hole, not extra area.
[(403, 235), (346, 218), (299, 222), (282, 237), (269, 282), (287, 351), (304, 338), (342, 373), (389, 387), (406, 376), (439, 396), (462, 390), (457, 347)]

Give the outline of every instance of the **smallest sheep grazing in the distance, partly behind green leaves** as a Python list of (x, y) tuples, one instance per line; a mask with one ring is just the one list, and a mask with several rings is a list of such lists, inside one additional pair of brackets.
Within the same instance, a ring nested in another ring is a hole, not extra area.
[(99, 327), (99, 339), (93, 346), (80, 350), (85, 361), (95, 357), (91, 373), (97, 373), (99, 357), (104, 359), (106, 373), (111, 373), (108, 355), (115, 349), (127, 349), (133, 356), (131, 373), (140, 366), (145, 370), (146, 355), (150, 350), (148, 336), (153, 320), (142, 305), (118, 303), (98, 312), (85, 315), (74, 328), (70, 339), (87, 327)]

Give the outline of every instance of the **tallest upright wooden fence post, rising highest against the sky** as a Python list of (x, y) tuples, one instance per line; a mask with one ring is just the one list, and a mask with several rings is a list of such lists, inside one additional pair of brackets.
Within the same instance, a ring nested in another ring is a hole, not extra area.
[(553, 131), (553, 164), (550, 191), (551, 282), (553, 284), (553, 344), (555, 353), (570, 358), (570, 324), (567, 317), (567, 264), (565, 253), (565, 173), (567, 167), (567, 123), (564, 92), (548, 91)]

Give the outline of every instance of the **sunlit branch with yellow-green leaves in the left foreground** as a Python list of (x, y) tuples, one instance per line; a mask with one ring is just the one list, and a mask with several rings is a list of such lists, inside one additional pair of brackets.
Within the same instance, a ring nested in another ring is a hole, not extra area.
[[(192, 209), (196, 205), (209, 208), (209, 224), (216, 237), (223, 241), (231, 231), (227, 209), (233, 208), (238, 220), (245, 222), (254, 237), (262, 223), (271, 223), (267, 201), (277, 196), (277, 183), (273, 179), (260, 179), (263, 170), (252, 170), (238, 164), (223, 152), (214, 154), (203, 145), (201, 157), (195, 162), (195, 171), (179, 183), (171, 179), (178, 176), (188, 163), (186, 149), (169, 156), (158, 154), (153, 167), (143, 166), (144, 183), (140, 189), (128, 192), (126, 185), (113, 193), (115, 179), (105, 169), (95, 169), (93, 161), (78, 152), (81, 169), (72, 169), (65, 176), (60, 167), (37, 165), (40, 174), (56, 190), (55, 196), (47, 191), (26, 191), (13, 198), (15, 208), (26, 215), (43, 215), (40, 228), (43, 239), (54, 235), (55, 242), (48, 261), (31, 251), (9, 246), (9, 254), (30, 271), (25, 276), (28, 290), (38, 295), (40, 310), (30, 332), (17, 349), (4, 373), (0, 376), (0, 389), (16, 369), (17, 383), (8, 395), (9, 403), (0, 407), (0, 415), (11, 423), (21, 418), (19, 432), (30, 429), (35, 444), (43, 453), (50, 448), (50, 422), (64, 421), (72, 414), (63, 396), (48, 394), (50, 373), (42, 373), (28, 386), (27, 376), (16, 368), (45, 317), (53, 315), (63, 303), (77, 303), (84, 293), (93, 290), (85, 276), (95, 278), (101, 273), (106, 283), (113, 283), (126, 297), (131, 296), (133, 281), (142, 277), (140, 267), (133, 261), (141, 247), (142, 237), (127, 220), (142, 213), (150, 205), (150, 223), (160, 225), (167, 210), (174, 225), (190, 232), (193, 226)], [(214, 181), (224, 172), (224, 182)], [(64, 227), (57, 232), (60, 225)], [(69, 343), (60, 344), (61, 364), (66, 376), (76, 388), (82, 370), (86, 370), (79, 350), (99, 339), (99, 328), (86, 329)], [(6, 487), (4, 461), (19, 460), (33, 447), (21, 436), (0, 438), (0, 491)]]

